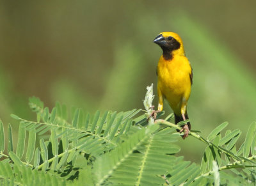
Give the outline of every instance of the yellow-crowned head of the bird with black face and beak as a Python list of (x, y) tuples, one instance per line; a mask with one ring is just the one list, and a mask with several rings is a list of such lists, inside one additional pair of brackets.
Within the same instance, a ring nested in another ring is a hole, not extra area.
[(173, 54), (185, 55), (182, 40), (177, 33), (160, 33), (153, 42), (163, 49), (163, 56), (167, 56), (166, 58), (172, 59)]

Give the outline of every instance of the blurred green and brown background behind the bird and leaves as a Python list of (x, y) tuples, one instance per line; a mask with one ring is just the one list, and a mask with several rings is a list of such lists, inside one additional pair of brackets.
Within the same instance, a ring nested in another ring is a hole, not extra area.
[[(174, 31), (193, 66), (193, 129), (206, 137), (228, 121), (243, 138), (256, 121), (255, 6), (238, 0), (2, 0), (0, 118), (15, 124), (15, 113), (35, 120), (31, 96), (50, 108), (60, 101), (92, 113), (143, 108), (146, 86), (153, 82), (156, 90), (161, 55), (152, 40)], [(172, 112), (168, 104), (164, 110)], [(186, 160), (200, 162), (204, 144), (189, 137), (179, 145)]]

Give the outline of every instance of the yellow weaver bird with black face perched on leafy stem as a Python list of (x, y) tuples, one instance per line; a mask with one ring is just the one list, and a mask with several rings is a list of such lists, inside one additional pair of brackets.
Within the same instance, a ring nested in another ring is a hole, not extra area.
[[(175, 115), (175, 124), (188, 120), (187, 105), (191, 92), (193, 72), (185, 56), (182, 40), (177, 33), (160, 33), (153, 41), (163, 50), (157, 65), (158, 111), (163, 111), (163, 100), (168, 100)], [(182, 126), (183, 139), (188, 137), (190, 123)]]

